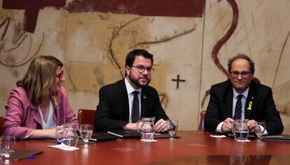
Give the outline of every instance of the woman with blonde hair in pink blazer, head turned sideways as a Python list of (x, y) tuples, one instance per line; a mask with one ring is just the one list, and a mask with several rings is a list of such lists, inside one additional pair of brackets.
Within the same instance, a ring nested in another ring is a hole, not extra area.
[(62, 62), (52, 56), (32, 60), (8, 97), (4, 129), (16, 138), (55, 138), (55, 128), (78, 123), (62, 87)]

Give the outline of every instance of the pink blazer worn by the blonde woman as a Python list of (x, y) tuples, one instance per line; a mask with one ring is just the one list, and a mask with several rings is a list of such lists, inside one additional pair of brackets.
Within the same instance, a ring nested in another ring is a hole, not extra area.
[[(58, 106), (54, 105), (55, 113), (53, 115), (57, 126), (78, 123), (76, 114), (67, 101), (67, 92), (64, 87), (57, 94), (57, 103)], [(34, 129), (42, 129), (41, 116), (37, 107), (29, 101), (24, 88), (13, 89), (5, 106), (4, 134), (15, 136), (15, 138), (25, 138), (32, 134)]]

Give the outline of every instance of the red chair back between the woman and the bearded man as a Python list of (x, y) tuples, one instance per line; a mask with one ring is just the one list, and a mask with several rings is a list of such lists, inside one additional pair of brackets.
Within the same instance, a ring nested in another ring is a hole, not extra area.
[(95, 124), (95, 116), (97, 110), (79, 109), (78, 123), (81, 124)]

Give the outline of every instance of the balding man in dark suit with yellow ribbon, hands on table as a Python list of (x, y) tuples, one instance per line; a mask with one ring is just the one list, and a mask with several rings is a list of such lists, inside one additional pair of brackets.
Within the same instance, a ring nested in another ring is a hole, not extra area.
[[(210, 89), (205, 115), (207, 131), (228, 132), (235, 119), (248, 119), (251, 132), (258, 127), (257, 122), (265, 122), (265, 134), (282, 134), (284, 127), (272, 98), (272, 89), (254, 82), (254, 71), (254, 62), (247, 55), (238, 54), (229, 59), (230, 80), (212, 85)], [(240, 114), (236, 108), (239, 97)]]

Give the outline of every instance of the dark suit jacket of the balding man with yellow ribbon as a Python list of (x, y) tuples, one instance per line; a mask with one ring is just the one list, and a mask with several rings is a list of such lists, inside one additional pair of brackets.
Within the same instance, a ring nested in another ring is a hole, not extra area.
[[(251, 110), (247, 109), (249, 101), (252, 102)], [(251, 81), (245, 106), (245, 119), (265, 121), (268, 135), (282, 134), (284, 127), (270, 87)], [(212, 85), (205, 115), (205, 129), (214, 132), (218, 124), (227, 117), (233, 117), (233, 85), (230, 80)]]

